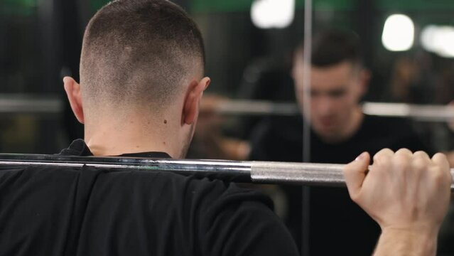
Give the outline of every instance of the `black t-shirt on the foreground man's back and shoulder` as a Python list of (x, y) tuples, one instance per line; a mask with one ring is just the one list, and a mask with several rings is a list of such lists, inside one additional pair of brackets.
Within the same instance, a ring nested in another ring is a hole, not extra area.
[[(92, 155), (82, 140), (60, 154)], [(298, 255), (271, 208), (233, 183), (167, 172), (3, 169), (0, 255)]]

